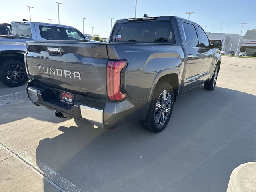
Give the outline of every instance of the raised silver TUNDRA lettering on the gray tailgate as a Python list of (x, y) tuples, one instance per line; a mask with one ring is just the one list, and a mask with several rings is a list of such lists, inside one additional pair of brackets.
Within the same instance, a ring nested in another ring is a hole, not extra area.
[(72, 73), (69, 70), (63, 70), (63, 69), (58, 69), (58, 68), (54, 68), (54, 67), (51, 68), (51, 67), (46, 67), (46, 66), (41, 66), (41, 65), (38, 65), (37, 67), (39, 68), (40, 73), (54, 75), (54, 76), (64, 76), (67, 78), (74, 78), (74, 79), (78, 78), (79, 80), (81, 80), (80, 72), (74, 71)]

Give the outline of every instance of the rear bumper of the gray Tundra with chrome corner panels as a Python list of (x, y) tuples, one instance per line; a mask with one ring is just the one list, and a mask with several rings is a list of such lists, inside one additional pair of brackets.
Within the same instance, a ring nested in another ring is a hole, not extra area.
[(59, 89), (41, 86), (32, 81), (27, 85), (28, 97), (35, 104), (106, 129), (116, 128), (131, 120), (142, 120), (146, 118), (148, 111), (147, 98), (136, 100), (135, 103), (129, 99), (122, 102), (102, 102), (75, 94), (74, 104), (69, 105), (58, 102), (59, 95), (52, 94), (53, 91), (58, 92)]

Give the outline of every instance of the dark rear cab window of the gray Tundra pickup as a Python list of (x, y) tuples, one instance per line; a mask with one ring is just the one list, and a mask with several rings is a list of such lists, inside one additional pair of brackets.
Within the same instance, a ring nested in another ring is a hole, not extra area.
[(171, 22), (129, 22), (117, 24), (112, 42), (175, 43)]

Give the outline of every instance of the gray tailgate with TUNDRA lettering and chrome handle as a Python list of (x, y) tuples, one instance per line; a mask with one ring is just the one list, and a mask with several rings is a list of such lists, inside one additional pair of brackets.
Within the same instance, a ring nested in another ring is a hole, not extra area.
[(106, 96), (106, 44), (27, 42), (26, 68), (35, 82), (81, 94)]

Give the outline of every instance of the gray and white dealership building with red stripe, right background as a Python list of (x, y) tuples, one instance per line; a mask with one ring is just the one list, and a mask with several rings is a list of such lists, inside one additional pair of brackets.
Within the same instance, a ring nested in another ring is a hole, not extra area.
[(248, 30), (246, 34), (241, 37), (239, 42), (239, 34), (232, 34), (232, 33), (210, 33), (206, 32), (207, 36), (210, 40), (220, 39), (223, 41), (223, 45), (221, 50), (225, 51), (226, 54), (230, 51), (231, 42), (232, 47), (231, 51), (236, 53), (238, 44), (238, 53), (239, 52), (246, 52), (250, 56), (256, 56), (256, 29)]

